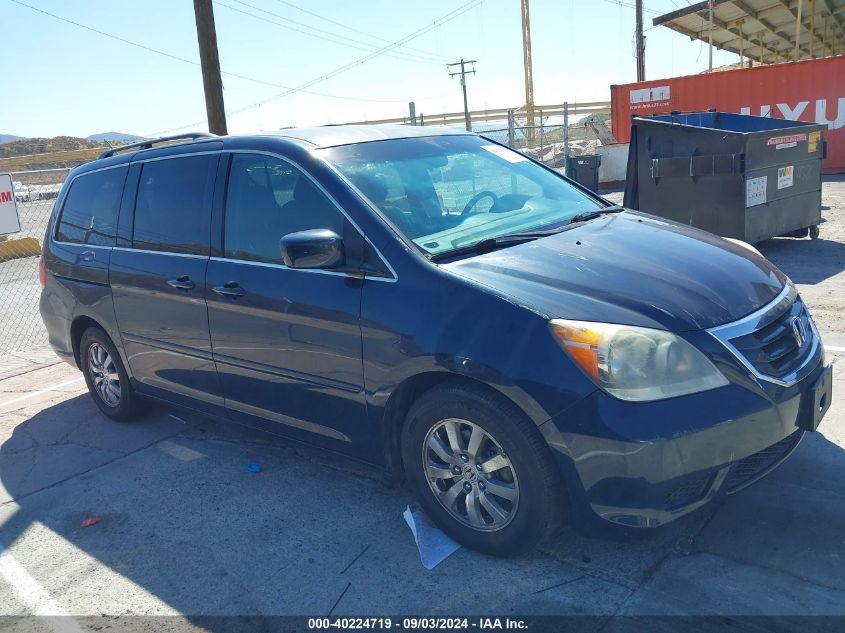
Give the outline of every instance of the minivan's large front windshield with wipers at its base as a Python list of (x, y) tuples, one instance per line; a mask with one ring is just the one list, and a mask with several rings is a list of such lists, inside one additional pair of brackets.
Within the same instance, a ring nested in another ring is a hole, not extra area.
[(428, 136), (321, 150), (424, 252), (562, 226), (601, 208), (522, 154), (478, 136)]

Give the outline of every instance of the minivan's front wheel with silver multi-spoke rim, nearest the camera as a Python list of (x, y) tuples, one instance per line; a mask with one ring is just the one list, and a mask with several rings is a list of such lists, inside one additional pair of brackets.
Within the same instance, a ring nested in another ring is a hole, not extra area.
[(472, 385), (428, 391), (408, 413), (402, 456), (423, 508), (467, 547), (519, 554), (560, 525), (566, 497), (551, 451), (504, 397)]

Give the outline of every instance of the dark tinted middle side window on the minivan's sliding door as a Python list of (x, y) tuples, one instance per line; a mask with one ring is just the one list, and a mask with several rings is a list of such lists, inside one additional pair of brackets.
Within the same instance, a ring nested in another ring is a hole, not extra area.
[(207, 255), (217, 155), (144, 163), (135, 200), (133, 248)]

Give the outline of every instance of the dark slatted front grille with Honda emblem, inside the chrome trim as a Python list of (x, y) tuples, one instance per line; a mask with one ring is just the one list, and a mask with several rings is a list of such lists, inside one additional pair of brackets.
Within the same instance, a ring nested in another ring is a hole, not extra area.
[(815, 333), (810, 314), (796, 299), (765, 325), (730, 339), (731, 345), (759, 373), (773, 378), (788, 376), (805, 363), (813, 350)]

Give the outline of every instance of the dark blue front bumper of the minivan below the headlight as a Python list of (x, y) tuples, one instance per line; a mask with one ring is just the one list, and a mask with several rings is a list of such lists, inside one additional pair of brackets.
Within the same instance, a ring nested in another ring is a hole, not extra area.
[(552, 418), (540, 428), (576, 518), (656, 527), (757, 481), (801, 441), (818, 406), (815, 386), (829, 371), (821, 354), (814, 365), (774, 391), (732, 381), (648, 403), (597, 391)]

